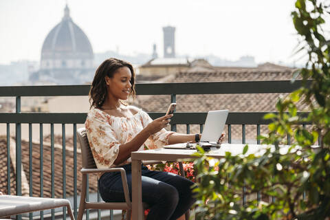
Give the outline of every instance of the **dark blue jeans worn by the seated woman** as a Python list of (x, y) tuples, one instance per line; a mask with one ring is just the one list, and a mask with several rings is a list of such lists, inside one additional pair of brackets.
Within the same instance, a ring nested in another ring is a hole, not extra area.
[[(131, 164), (122, 166), (126, 170), (129, 194), (132, 198)], [(100, 195), (104, 201), (124, 201), (122, 178), (119, 172), (104, 173), (98, 180)], [(189, 179), (142, 166), (142, 202), (150, 207), (146, 219), (177, 219), (184, 214), (195, 198), (192, 193), (194, 183)]]

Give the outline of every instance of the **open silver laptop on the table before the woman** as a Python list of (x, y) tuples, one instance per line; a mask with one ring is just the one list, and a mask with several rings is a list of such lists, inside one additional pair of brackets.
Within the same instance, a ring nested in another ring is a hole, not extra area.
[[(221, 137), (221, 133), (225, 127), (225, 121), (227, 120), (228, 112), (228, 109), (208, 112), (208, 115), (206, 116), (205, 126), (203, 128), (203, 133), (201, 134), (201, 143), (218, 142), (219, 138)], [(187, 145), (187, 143), (170, 144), (165, 145), (164, 148), (189, 148), (190, 145)]]

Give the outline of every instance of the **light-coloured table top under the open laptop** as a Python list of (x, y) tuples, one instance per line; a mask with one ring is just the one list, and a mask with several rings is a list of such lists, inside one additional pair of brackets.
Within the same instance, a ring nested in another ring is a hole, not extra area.
[[(206, 154), (210, 157), (221, 158), (225, 156), (226, 152), (232, 153), (232, 155), (239, 155), (243, 153), (243, 148), (246, 144), (221, 144), (219, 148), (211, 147), (210, 151)], [(265, 153), (265, 148), (274, 146), (267, 146), (265, 144), (248, 144), (248, 152), (245, 155), (250, 155), (254, 153), (255, 155), (262, 155)], [(286, 153), (288, 146), (281, 146), (283, 149), (281, 153)], [(157, 148), (153, 150), (146, 151), (135, 151), (131, 153), (132, 159), (137, 160), (168, 160), (176, 161), (177, 159), (190, 159), (195, 156), (192, 155), (196, 153), (197, 150), (193, 149), (170, 149), (170, 148)]]

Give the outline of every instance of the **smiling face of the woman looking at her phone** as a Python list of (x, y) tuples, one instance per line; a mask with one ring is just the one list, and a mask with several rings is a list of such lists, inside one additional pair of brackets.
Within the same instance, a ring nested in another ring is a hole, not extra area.
[(107, 83), (108, 96), (112, 96), (115, 99), (126, 100), (129, 97), (131, 91), (132, 74), (129, 67), (120, 67), (117, 69), (113, 77), (105, 77)]

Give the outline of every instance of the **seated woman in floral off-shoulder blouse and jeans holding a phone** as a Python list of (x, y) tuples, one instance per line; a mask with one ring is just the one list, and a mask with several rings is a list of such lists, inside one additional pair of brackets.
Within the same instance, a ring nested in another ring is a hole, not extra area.
[[(173, 115), (152, 120), (136, 107), (124, 104), (135, 96), (135, 74), (130, 63), (116, 58), (104, 61), (96, 70), (89, 93), (91, 110), (85, 126), (98, 168), (123, 167), (131, 194), (131, 152), (159, 148), (165, 144), (195, 142), (199, 135), (166, 131)], [(142, 201), (148, 203), (147, 219), (177, 219), (195, 202), (194, 183), (173, 173), (142, 166)], [(104, 173), (99, 179), (104, 201), (124, 201), (120, 173)]]

